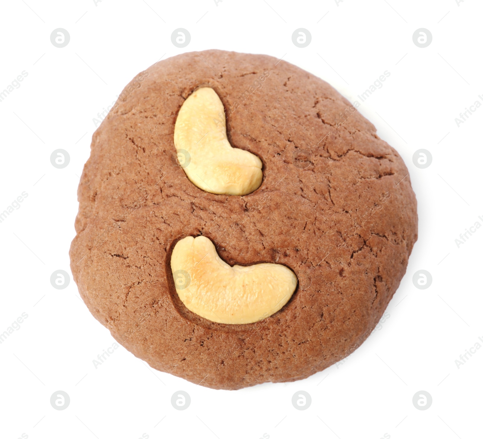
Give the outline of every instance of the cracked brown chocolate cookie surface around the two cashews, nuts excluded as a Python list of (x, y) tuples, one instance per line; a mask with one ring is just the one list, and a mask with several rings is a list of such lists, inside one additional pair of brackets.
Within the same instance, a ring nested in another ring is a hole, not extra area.
[[(91, 313), (152, 367), (214, 389), (300, 380), (349, 355), (417, 239), (396, 150), (334, 88), (283, 60), (208, 50), (147, 73), (94, 133), (79, 184), (71, 270)], [(200, 87), (223, 102), (231, 145), (263, 162), (249, 195), (204, 192), (176, 161), (176, 117)], [(199, 317), (170, 271), (176, 242), (198, 235), (230, 265), (286, 265), (297, 291), (261, 322)]]

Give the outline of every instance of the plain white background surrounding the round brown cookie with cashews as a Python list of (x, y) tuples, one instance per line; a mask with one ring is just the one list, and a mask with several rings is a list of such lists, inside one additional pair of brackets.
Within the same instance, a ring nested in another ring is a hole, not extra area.
[[(28, 318), (0, 344), (0, 437), (482, 437), (483, 349), (455, 364), (483, 337), (483, 228), (455, 244), (483, 224), (483, 107), (455, 123), (483, 102), (482, 16), (477, 0), (2, 2), (0, 90), (28, 76), (0, 102), (0, 211), (23, 191), (28, 197), (0, 223), (0, 332), (22, 312)], [(64, 48), (50, 42), (56, 28), (70, 33)], [(191, 34), (183, 49), (171, 43), (176, 28)], [(298, 28), (312, 34), (306, 48), (292, 43)], [(432, 33), (426, 48), (412, 41), (418, 28)], [(359, 111), (408, 166), (419, 239), (390, 317), (344, 363), (307, 380), (215, 391), (153, 370), (122, 347), (96, 369), (113, 338), (72, 279), (64, 290), (50, 284), (55, 270), (70, 273), (92, 119), (158, 59), (210, 48), (283, 58), (351, 102), (391, 73)], [(50, 163), (57, 148), (70, 154), (64, 169)], [(420, 148), (433, 157), (426, 169), (412, 161)], [(426, 290), (412, 283), (420, 269), (433, 278)], [(50, 405), (57, 390), (70, 395), (66, 410)], [(191, 396), (187, 410), (170, 404), (178, 390)], [(312, 396), (307, 410), (292, 406), (299, 390)], [(432, 395), (428, 410), (412, 404), (421, 390)]]

